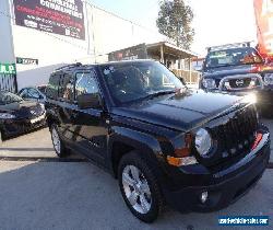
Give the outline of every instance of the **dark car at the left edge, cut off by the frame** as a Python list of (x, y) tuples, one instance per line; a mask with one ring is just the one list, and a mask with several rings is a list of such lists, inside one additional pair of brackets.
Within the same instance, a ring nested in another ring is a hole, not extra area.
[(45, 105), (0, 91), (0, 141), (46, 124)]

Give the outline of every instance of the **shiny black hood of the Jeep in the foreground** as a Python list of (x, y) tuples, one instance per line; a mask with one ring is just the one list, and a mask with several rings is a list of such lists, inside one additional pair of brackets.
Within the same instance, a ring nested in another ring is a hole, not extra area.
[(167, 95), (127, 107), (116, 107), (119, 116), (178, 130), (189, 130), (237, 104), (242, 97), (203, 90)]

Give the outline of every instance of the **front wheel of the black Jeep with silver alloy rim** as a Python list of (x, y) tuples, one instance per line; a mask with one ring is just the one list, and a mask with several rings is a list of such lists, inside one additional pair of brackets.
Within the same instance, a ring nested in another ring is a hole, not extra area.
[(131, 212), (144, 222), (157, 219), (164, 199), (154, 170), (138, 151), (122, 157), (118, 168), (119, 187)]

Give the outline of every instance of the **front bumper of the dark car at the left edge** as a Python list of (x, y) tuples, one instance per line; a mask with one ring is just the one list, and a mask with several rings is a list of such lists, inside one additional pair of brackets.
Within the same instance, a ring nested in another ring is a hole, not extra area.
[(37, 117), (5, 119), (0, 124), (0, 130), (4, 138), (10, 138), (46, 125), (45, 114), (43, 119), (32, 123), (31, 120)]

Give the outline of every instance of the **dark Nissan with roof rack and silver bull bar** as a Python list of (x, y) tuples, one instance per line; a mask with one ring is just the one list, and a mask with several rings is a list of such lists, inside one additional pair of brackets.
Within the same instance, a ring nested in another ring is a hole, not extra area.
[(251, 43), (209, 48), (200, 88), (229, 93), (257, 92), (263, 114), (273, 117), (273, 68)]

